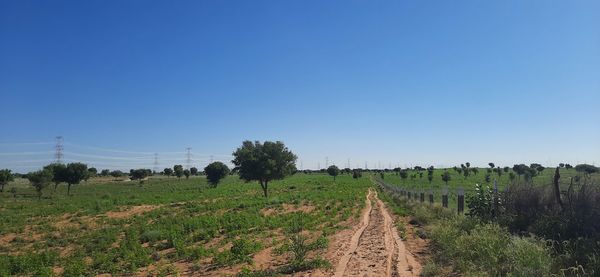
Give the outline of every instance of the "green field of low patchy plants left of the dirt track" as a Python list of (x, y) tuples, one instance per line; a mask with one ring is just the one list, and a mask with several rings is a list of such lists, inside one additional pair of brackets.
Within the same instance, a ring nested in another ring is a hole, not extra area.
[(257, 183), (237, 176), (217, 188), (203, 177), (142, 185), (91, 179), (74, 186), (72, 196), (60, 185), (38, 200), (19, 179), (0, 196), (0, 276), (252, 270), (252, 255), (285, 250), (296, 212), (304, 213), (308, 236), (326, 244), (359, 215), (371, 185), (368, 177), (342, 175), (334, 183), (323, 174), (296, 174), (272, 182), (265, 199)]

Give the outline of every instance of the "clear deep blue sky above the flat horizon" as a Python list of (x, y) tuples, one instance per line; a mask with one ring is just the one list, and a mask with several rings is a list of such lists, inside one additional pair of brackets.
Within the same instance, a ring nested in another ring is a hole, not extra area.
[(246, 139), (304, 168), (598, 164), (599, 26), (598, 1), (2, 1), (0, 167), (57, 135), (101, 168)]

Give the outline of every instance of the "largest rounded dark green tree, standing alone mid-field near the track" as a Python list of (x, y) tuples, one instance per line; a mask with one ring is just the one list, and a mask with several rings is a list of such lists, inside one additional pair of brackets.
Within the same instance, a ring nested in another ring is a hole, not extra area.
[(281, 141), (244, 141), (233, 152), (232, 160), (239, 169), (240, 178), (250, 182), (258, 181), (265, 197), (268, 197), (268, 184), (271, 180), (283, 179), (296, 170), (296, 155)]

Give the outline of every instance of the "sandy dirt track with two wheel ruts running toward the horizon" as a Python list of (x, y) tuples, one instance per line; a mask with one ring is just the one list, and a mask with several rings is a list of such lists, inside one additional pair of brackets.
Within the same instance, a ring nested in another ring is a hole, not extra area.
[(361, 226), (350, 238), (334, 276), (418, 276), (421, 265), (404, 247), (375, 191), (369, 190), (366, 204)]

